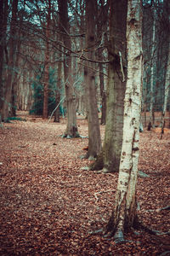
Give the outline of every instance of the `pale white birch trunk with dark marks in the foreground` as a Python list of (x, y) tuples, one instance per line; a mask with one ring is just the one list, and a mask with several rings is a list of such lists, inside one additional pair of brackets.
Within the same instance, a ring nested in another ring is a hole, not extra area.
[(127, 9), (127, 86), (124, 100), (123, 142), (116, 189), (116, 204), (106, 232), (111, 232), (117, 242), (123, 232), (137, 219), (136, 183), (139, 160), (139, 121), (143, 73), (142, 56), (142, 3), (128, 0)]

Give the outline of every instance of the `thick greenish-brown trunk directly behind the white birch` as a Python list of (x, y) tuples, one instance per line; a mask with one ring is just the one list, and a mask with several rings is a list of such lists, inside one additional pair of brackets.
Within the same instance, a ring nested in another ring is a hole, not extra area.
[(106, 98), (105, 141), (92, 170), (118, 172), (122, 148), (123, 100), (126, 87), (127, 1), (110, 3), (109, 70)]

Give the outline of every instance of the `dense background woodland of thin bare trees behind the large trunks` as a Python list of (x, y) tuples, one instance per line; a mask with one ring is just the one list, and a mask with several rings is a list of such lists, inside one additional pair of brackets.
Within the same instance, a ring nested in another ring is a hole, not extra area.
[[(84, 68), (93, 66), (97, 106), (102, 112), (101, 122), (105, 123), (107, 70), (110, 61), (108, 52), (111, 43), (110, 3), (96, 0), (94, 9), (88, 10), (89, 17), (94, 17), (94, 24), (90, 24), (93, 26), (91, 32), (94, 43), (93, 46), (88, 46), (85, 1), (64, 2), (1, 1), (2, 119), (8, 119), (9, 115), (14, 116), (16, 110), (27, 110), (47, 118), (55, 110), (55, 121), (59, 121), (59, 107), (63, 114), (63, 108), (66, 111), (68, 107), (65, 97), (68, 83), (71, 83), (77, 113), (86, 115), (87, 84)], [(120, 15), (123, 15), (123, 11)], [(116, 33), (118, 48), (122, 35), (120, 31)], [(88, 47), (93, 48), (93, 53), (89, 53)], [(164, 104), (166, 110), (169, 111), (170, 108), (169, 6), (166, 0), (143, 3), (143, 52), (142, 111), (150, 111), (153, 122), (155, 111), (163, 112)]]

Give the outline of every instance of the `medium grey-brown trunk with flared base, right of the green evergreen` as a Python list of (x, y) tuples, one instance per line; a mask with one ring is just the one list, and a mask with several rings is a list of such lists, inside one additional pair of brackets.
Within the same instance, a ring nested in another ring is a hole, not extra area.
[(67, 126), (64, 137), (79, 137), (77, 129), (76, 115), (76, 95), (72, 79), (71, 68), (71, 37), (69, 35), (69, 18), (67, 0), (58, 0), (59, 3), (59, 22), (62, 26), (63, 41), (65, 44), (65, 96), (66, 96), (66, 111), (67, 111)]

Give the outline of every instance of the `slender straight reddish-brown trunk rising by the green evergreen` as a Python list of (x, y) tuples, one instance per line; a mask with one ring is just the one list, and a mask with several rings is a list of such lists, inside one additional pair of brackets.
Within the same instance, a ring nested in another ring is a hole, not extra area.
[(48, 15), (46, 26), (46, 52), (45, 52), (45, 68), (44, 68), (44, 84), (43, 84), (43, 119), (48, 119), (48, 84), (49, 84), (49, 61), (50, 50), (48, 38), (50, 36), (50, 15), (51, 15), (51, 0), (48, 0)]

